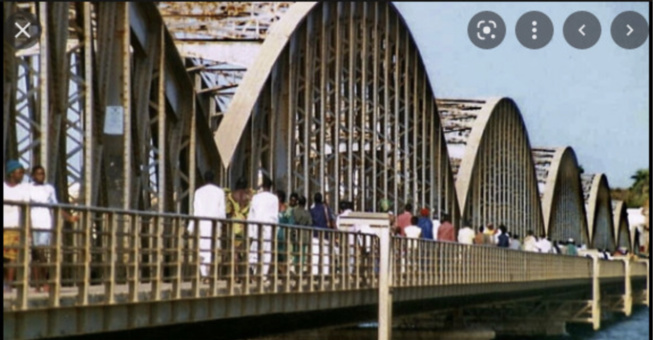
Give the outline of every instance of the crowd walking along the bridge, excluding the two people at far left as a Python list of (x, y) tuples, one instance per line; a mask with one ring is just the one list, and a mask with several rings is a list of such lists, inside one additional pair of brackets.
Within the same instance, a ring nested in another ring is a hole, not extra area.
[[(238, 263), (235, 272), (239, 277), (243, 276), (245, 271), (267, 277), (271, 273), (272, 263), (278, 264), (278, 268), (272, 270), (279, 270), (279, 272), (302, 271), (305, 274), (328, 275), (331, 268), (330, 254), (344, 251), (345, 247), (350, 247), (349, 251), (357, 252), (365, 248), (362, 242), (356, 241), (355, 238), (346, 240), (345, 244), (338, 244), (337, 241), (334, 243), (329, 240), (328, 233), (322, 237), (318, 233), (320, 229), (342, 230), (340, 219), (353, 211), (353, 202), (341, 200), (336, 214), (325, 202), (321, 193), (314, 194), (310, 206), (307, 206), (308, 199), (298, 193), (293, 192), (290, 196), (287, 196), (283, 190), (273, 193), (272, 181), (267, 176), (263, 176), (258, 191), (249, 188), (244, 178), (236, 182), (234, 190), (222, 189), (212, 184), (214, 174), (211, 171), (205, 174), (204, 179), (208, 184), (198, 188), (195, 193), (194, 215), (242, 220), (242, 222), (233, 222), (232, 227), (236, 240), (235, 260)], [(221, 198), (216, 198), (218, 196)], [(378, 210), (389, 213), (392, 233), (398, 237), (565, 255), (578, 255), (580, 249), (585, 249), (584, 245), (577, 244), (573, 239), (551, 242), (546, 235), (537, 237), (533, 231), (528, 231), (522, 239), (520, 235), (509, 232), (505, 225), (495, 228), (493, 224), (488, 224), (474, 231), (469, 223), (464, 223), (456, 232), (448, 214), (442, 214), (440, 220), (437, 215), (432, 215), (429, 209), (422, 208), (418, 215), (414, 215), (411, 204), (406, 204), (404, 211), (395, 216), (390, 202), (381, 200)], [(208, 225), (201, 227), (202, 223)], [(306, 228), (276, 228), (276, 235), (273, 235), (273, 224)], [(307, 230), (308, 228), (313, 231)], [(193, 229), (192, 223), (190, 229), (191, 231)], [(200, 231), (202, 238), (207, 240), (204, 241), (205, 244), (200, 241), (199, 245), (201, 249), (199, 255), (202, 258), (201, 273), (207, 276), (212, 262), (208, 244), (210, 222), (200, 222), (200, 229), (204, 230)], [(374, 234), (374, 230), (369, 226), (357, 226), (347, 230)], [(245, 237), (249, 237), (250, 242), (244, 242)], [(274, 238), (276, 242), (273, 242)], [(272, 249), (273, 246), (276, 249)], [(262, 256), (260, 261), (259, 256)], [(276, 261), (273, 261), (273, 256), (277, 257)], [(225, 257), (222, 261), (231, 262), (231, 260)]]

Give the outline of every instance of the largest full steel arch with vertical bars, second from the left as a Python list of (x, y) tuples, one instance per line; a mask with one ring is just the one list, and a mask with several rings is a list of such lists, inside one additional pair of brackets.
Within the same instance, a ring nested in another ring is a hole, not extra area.
[(433, 91), (388, 3), (297, 3), (268, 32), (216, 133), (230, 177), (458, 216)]

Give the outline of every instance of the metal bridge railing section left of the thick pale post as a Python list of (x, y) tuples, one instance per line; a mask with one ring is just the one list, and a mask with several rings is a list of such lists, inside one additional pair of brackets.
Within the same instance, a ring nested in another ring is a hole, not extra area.
[[(335, 230), (4, 201), (20, 225), (5, 308), (375, 288), (378, 237)], [(32, 228), (48, 209), (52, 229)], [(64, 219), (63, 211), (79, 218)], [(7, 229), (5, 229), (6, 231)], [(37, 239), (51, 239), (35, 244)], [(43, 274), (45, 272), (45, 274)], [(38, 274), (41, 273), (39, 277)], [(39, 287), (48, 292), (38, 292)]]

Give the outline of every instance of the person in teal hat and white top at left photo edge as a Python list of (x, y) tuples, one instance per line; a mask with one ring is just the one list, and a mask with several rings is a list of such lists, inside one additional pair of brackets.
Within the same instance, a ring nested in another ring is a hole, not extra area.
[[(23, 184), (25, 168), (19, 161), (10, 160), (5, 168), (5, 182), (3, 188), (3, 199), (6, 201), (28, 202), (29, 188)], [(18, 258), (18, 247), (20, 241), (20, 207), (17, 205), (3, 205), (3, 257), (4, 264), (15, 262)], [(15, 268), (4, 268), (4, 291), (11, 291), (11, 283), (14, 281)]]

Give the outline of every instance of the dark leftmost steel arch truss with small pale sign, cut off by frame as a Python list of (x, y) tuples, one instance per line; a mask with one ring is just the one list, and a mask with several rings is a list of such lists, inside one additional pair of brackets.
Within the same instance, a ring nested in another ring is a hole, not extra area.
[(44, 165), (63, 202), (79, 188), (89, 206), (187, 212), (220, 161), (156, 6), (5, 2), (4, 21), (19, 7), (42, 34), (5, 44), (3, 161)]

